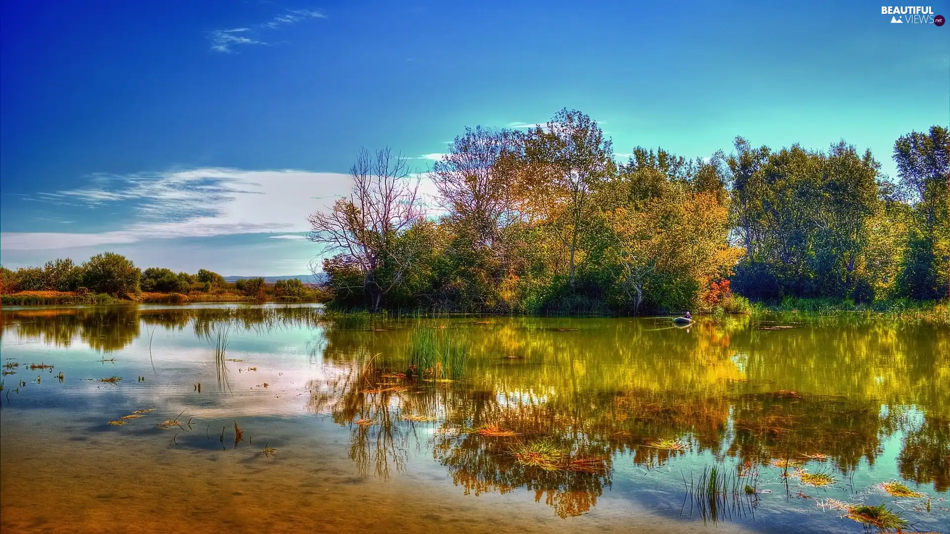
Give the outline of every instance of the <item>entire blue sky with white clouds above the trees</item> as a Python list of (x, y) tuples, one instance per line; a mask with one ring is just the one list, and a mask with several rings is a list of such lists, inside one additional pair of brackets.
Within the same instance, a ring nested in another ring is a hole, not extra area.
[(306, 273), (361, 145), (422, 171), (564, 106), (618, 153), (845, 139), (892, 178), (898, 136), (948, 123), (950, 26), (762, 4), (4, 0), (0, 261)]

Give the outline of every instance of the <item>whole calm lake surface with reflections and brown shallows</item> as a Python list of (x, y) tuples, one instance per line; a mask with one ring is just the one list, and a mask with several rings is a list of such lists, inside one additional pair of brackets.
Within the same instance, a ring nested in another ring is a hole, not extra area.
[[(4, 309), (0, 526), (864, 531), (840, 501), (950, 530), (948, 329), (769, 320)], [(403, 375), (420, 329), (466, 341), (455, 380)]]

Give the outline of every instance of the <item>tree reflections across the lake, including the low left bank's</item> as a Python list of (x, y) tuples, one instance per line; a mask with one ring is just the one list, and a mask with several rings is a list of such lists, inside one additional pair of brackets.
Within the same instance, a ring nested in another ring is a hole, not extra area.
[[(445, 385), (392, 375), (405, 369), (409, 333), (419, 324), (331, 327), (317, 344), (319, 357), (339, 375), (312, 385), (313, 408), (352, 425), (351, 456), (363, 473), (389, 476), (405, 466), (409, 447), (426, 447), (466, 491), (530, 487), (570, 515), (594, 505), (611, 484), (616, 453), (629, 452), (641, 466), (681, 454), (651, 447), (656, 440), (681, 440), (717, 458), (758, 464), (825, 454), (846, 473), (863, 458), (876, 462), (884, 440), (900, 431), (902, 476), (939, 491), (950, 486), (950, 333), (942, 327), (860, 316), (796, 317), (788, 323), (794, 328), (782, 331), (761, 330), (748, 318), (701, 321), (689, 331), (643, 319), (421, 321), (470, 343), (466, 376)], [(0, 333), (104, 352), (123, 349), (153, 326), (211, 337), (224, 325), (262, 334), (318, 333), (327, 326), (318, 309), (306, 306), (0, 315)], [(919, 416), (905, 417), (901, 410), (908, 406)], [(432, 425), (418, 420), (426, 418), (438, 419), (440, 433), (420, 431)], [(359, 420), (373, 424), (355, 424)], [(517, 436), (466, 431), (487, 426)], [(511, 449), (537, 439), (603, 456), (607, 468), (524, 467)]]

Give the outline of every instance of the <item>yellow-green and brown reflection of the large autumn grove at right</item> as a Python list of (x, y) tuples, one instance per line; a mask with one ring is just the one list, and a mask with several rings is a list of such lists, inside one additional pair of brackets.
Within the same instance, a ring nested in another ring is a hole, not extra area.
[[(559, 514), (571, 515), (595, 505), (610, 485), (614, 453), (630, 452), (646, 467), (681, 454), (653, 447), (661, 439), (737, 464), (824, 455), (846, 475), (862, 459), (874, 464), (883, 441), (898, 431), (905, 435), (902, 476), (947, 489), (950, 448), (939, 415), (947, 391), (934, 388), (945, 380), (939, 371), (945, 357), (937, 355), (945, 332), (882, 322), (851, 325), (844, 333), (812, 325), (776, 333), (748, 322), (731, 328), (707, 323), (692, 336), (655, 331), (642, 321), (564, 319), (548, 328), (535, 319), (434, 323), (470, 339), (474, 356), (465, 379), (393, 386), (391, 378), (376, 378), (396, 388), (377, 410), (389, 410), (386, 420), (395, 426), (415, 424), (400, 420), (404, 412), (438, 417), (428, 447), (466, 492), (528, 487)], [(590, 331), (576, 334), (575, 327)], [(353, 353), (378, 354), (364, 377), (365, 388), (377, 391), (373, 376), (405, 367), (407, 341), (398, 323), (377, 332), (331, 331), (324, 355), (337, 366), (352, 362)], [(363, 393), (352, 388), (347, 394), (358, 404)], [(409, 402), (436, 408), (419, 411)], [(897, 410), (882, 410), (909, 404), (923, 410), (924, 425), (910, 426)], [(472, 431), (489, 426), (518, 435)], [(541, 438), (602, 455), (608, 468), (542, 472), (520, 465), (513, 444)]]

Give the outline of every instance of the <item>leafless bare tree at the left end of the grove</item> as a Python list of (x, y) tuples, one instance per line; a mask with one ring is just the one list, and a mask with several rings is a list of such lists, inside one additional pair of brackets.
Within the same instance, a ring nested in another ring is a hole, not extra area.
[(389, 147), (375, 153), (361, 148), (350, 175), (350, 197), (336, 200), (329, 212), (312, 214), (308, 239), (323, 244), (324, 254), (335, 253), (358, 269), (370, 310), (376, 312), (383, 296), (402, 282), (419, 257), (421, 243), (404, 238), (426, 212), (419, 178), (413, 178), (406, 159), (394, 156)]

